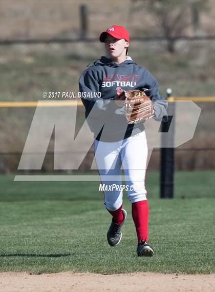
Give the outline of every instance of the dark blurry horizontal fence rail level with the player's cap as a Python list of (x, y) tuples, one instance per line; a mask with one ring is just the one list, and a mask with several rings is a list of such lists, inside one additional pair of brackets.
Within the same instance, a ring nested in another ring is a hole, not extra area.
[[(196, 35), (196, 36), (173, 36), (173, 37), (164, 37), (164, 36), (137, 36), (131, 37), (131, 41), (199, 41), (199, 40), (215, 40), (215, 35)], [(32, 38), (26, 40), (0, 40), (0, 45), (14, 45), (14, 44), (51, 44), (51, 43), (77, 43), (77, 42), (97, 42), (98, 37), (93, 38)]]

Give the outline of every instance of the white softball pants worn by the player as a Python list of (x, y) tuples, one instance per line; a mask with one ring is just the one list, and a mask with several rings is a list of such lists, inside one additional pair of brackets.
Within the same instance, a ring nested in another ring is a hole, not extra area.
[(128, 200), (131, 203), (147, 200), (145, 189), (147, 152), (144, 131), (117, 142), (95, 140), (95, 160), (101, 183), (105, 185), (104, 205), (107, 209), (114, 211), (122, 205), (121, 166), (124, 169)]

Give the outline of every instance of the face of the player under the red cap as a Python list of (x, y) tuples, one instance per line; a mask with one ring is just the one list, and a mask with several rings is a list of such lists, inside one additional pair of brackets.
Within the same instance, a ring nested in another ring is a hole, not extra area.
[(125, 55), (126, 48), (129, 46), (129, 43), (121, 38), (115, 38), (112, 35), (107, 35), (104, 40), (106, 55), (111, 59), (116, 59), (123, 54)]

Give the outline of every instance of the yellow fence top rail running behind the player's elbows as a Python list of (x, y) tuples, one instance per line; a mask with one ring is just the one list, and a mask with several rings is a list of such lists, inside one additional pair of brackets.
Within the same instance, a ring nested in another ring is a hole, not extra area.
[[(215, 102), (215, 96), (170, 96), (167, 98), (169, 102), (174, 101), (193, 101), (193, 102)], [(0, 102), (0, 107), (54, 107), (54, 106), (83, 106), (80, 100), (74, 99), (73, 101), (40, 101), (38, 102)]]

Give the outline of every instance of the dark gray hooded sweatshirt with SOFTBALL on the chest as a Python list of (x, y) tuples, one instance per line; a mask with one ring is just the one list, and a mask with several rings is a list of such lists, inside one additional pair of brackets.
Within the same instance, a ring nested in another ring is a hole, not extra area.
[(154, 103), (154, 119), (161, 121), (167, 116), (167, 101), (159, 94), (158, 82), (146, 68), (137, 65), (129, 56), (120, 64), (102, 56), (84, 70), (79, 79), (85, 118), (96, 140), (120, 141), (145, 129), (143, 122), (127, 125), (124, 106), (119, 108), (114, 101), (117, 87), (147, 89), (145, 93)]

